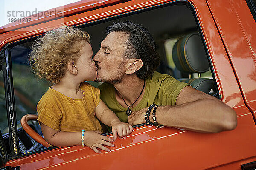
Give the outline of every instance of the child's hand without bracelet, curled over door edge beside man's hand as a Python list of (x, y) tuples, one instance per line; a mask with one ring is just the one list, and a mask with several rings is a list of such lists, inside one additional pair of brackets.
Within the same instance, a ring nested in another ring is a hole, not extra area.
[(111, 124), (114, 141), (117, 139), (117, 135), (120, 138), (126, 139), (126, 137), (132, 132), (132, 126), (128, 123), (121, 121), (115, 121)]

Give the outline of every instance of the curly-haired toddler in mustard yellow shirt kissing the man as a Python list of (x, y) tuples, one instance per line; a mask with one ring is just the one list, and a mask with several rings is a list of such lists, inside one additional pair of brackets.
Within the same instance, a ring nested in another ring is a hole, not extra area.
[[(72, 27), (60, 27), (36, 40), (29, 55), (30, 65), (39, 78), (53, 85), (37, 105), (38, 122), (44, 139), (54, 146), (86, 145), (96, 153), (110, 151), (117, 135), (132, 132), (99, 98), (100, 90), (85, 81), (94, 81), (89, 34)], [(113, 139), (100, 135), (99, 120), (112, 127)], [(84, 132), (82, 132), (84, 131)], [(83, 136), (83, 137), (82, 137)]]

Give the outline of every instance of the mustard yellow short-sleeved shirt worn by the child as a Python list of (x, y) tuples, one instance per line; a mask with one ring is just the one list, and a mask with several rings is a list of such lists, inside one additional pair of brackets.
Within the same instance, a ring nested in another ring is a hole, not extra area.
[(82, 99), (71, 99), (49, 88), (37, 105), (38, 122), (55, 130), (77, 132), (84, 129), (103, 132), (95, 116), (100, 90), (87, 82), (80, 85), (84, 94)]

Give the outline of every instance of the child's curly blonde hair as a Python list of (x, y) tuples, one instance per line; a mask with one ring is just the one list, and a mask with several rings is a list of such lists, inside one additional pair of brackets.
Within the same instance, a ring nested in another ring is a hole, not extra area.
[(58, 83), (65, 75), (67, 63), (81, 56), (82, 47), (89, 40), (89, 34), (77, 28), (53, 29), (33, 43), (29, 63), (38, 78)]

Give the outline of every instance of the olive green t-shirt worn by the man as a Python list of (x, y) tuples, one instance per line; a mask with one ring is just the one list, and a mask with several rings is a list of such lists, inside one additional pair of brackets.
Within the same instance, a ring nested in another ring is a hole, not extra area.
[[(160, 74), (157, 71), (146, 78), (145, 94), (138, 105), (131, 108), (132, 111), (149, 107), (151, 104), (159, 106), (175, 105), (180, 91), (188, 84), (180, 82), (168, 74)], [(128, 116), (115, 97), (115, 88), (112, 84), (104, 83), (99, 86), (100, 98), (122, 121), (127, 122)]]

